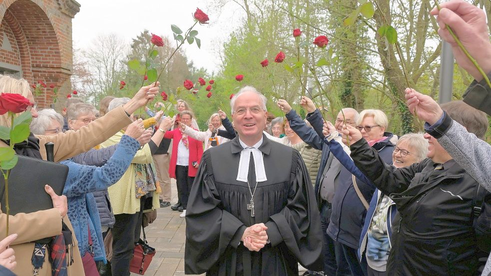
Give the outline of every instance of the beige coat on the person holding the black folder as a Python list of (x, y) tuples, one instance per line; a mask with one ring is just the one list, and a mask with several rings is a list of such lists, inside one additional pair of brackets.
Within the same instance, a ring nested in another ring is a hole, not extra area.
[[(43, 159), (46, 159), (44, 144), (54, 143), (54, 161), (62, 161), (72, 156), (86, 152), (92, 147), (104, 142), (114, 133), (131, 123), (131, 120), (122, 107), (115, 108), (105, 116), (80, 128), (78, 131), (67, 131), (54, 136), (37, 135), (39, 138), (39, 151)], [(6, 146), (0, 144), (0, 146)], [(0, 240), (5, 238), (6, 216), (0, 211)], [(73, 233), (68, 217), (63, 219), (72, 231), (73, 237), (73, 264), (68, 267), (68, 276), (84, 276), (82, 260), (78, 251), (78, 242)], [(41, 238), (52, 237), (61, 233), (61, 217), (58, 209), (53, 208), (29, 214), (17, 214), (10, 216), (9, 234), (17, 233), (18, 238), (13, 242), (17, 267), (13, 271), (18, 276), (32, 275), (31, 257), (35, 241)], [(44, 265), (39, 271), (39, 276), (51, 276), (51, 264), (46, 256)]]

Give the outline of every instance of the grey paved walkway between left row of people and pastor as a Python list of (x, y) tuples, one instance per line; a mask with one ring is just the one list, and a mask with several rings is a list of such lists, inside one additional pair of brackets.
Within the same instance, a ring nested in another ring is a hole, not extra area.
[[(172, 202), (177, 202), (177, 188), (172, 179)], [(170, 207), (157, 210), (157, 219), (145, 228), (148, 244), (157, 253), (152, 259), (145, 276), (184, 276), (184, 243), (186, 240), (186, 221), (179, 218), (181, 212)], [(300, 272), (300, 275), (305, 270)], [(204, 274), (202, 274), (204, 276)], [(137, 274), (131, 274), (137, 276)]]

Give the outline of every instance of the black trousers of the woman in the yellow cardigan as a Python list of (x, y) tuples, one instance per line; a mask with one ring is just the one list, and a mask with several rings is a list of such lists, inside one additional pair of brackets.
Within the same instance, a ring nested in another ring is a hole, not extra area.
[(129, 263), (135, 244), (140, 238), (143, 205), (146, 196), (140, 199), (140, 212), (114, 215), (116, 222), (112, 231), (112, 276), (129, 276)]

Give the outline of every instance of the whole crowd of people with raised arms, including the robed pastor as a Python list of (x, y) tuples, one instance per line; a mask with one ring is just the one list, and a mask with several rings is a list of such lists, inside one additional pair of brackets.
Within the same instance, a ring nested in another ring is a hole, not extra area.
[[(206, 131), (182, 99), (173, 117), (146, 107), (158, 82), (98, 110), (69, 99), (59, 114), (37, 110), (26, 80), (0, 76), (0, 91), (31, 102), (31, 133), (15, 152), (46, 159), (52, 142), (68, 168), (62, 195), (45, 186), (52, 209), (10, 216), (8, 237), (0, 224), (0, 275), (129, 276), (142, 228), (169, 207), (186, 220), (186, 274), (297, 276), (300, 264), (304, 275), (490, 276), (491, 87), (445, 24), (485, 72), (489, 32), (474, 5), (441, 7), (439, 34), (475, 81), (442, 105), (404, 91), (425, 133), (391, 133), (377, 109), (343, 108), (330, 122), (305, 96), (305, 119), (283, 99), (285, 116), (274, 117), (251, 86), (231, 98), (231, 120), (218, 110)], [(147, 119), (135, 117), (140, 107)]]

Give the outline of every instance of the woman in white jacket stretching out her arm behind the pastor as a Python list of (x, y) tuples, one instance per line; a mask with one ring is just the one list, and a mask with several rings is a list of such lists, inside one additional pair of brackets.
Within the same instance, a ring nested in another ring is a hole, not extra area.
[(225, 127), (222, 125), (221, 118), (226, 118), (226, 115), (223, 111), (218, 111), (218, 113), (213, 113), (208, 120), (208, 129), (206, 131), (198, 131), (189, 127), (183, 123), (180, 123), (180, 127), (183, 128), (183, 132), (186, 135), (194, 138), (198, 141), (205, 142), (205, 150), (223, 144), (227, 141), (230, 141), (227, 138), (222, 136), (218, 136), (218, 130), (225, 130)]

